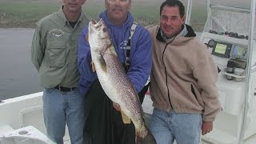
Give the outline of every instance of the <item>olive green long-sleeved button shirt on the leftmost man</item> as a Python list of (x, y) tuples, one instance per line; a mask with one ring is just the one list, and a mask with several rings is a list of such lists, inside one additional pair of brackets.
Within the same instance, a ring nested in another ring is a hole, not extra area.
[(39, 71), (42, 87), (78, 87), (78, 38), (88, 22), (88, 18), (81, 14), (73, 29), (62, 9), (38, 22), (31, 59)]

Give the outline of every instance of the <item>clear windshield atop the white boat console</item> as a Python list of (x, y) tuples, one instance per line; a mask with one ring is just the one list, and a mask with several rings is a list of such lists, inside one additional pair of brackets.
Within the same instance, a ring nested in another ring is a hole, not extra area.
[(233, 32), (247, 36), (250, 32), (250, 2), (210, 1), (205, 32), (214, 30), (217, 33)]

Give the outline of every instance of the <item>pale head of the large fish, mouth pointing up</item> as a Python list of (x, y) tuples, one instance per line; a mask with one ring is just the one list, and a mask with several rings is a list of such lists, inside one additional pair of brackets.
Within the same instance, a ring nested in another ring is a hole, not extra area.
[(90, 50), (102, 52), (112, 44), (108, 28), (102, 18), (98, 22), (91, 20), (88, 29)]

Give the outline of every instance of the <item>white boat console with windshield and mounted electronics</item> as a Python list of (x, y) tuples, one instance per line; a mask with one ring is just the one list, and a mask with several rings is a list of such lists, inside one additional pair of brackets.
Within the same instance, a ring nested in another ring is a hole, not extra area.
[(236, 144), (256, 134), (256, 73), (248, 65), (250, 53), (256, 54), (251, 50), (255, 42), (250, 41), (250, 20), (250, 10), (209, 5), (200, 40), (220, 70), (217, 87), (221, 112), (214, 130), (202, 136), (206, 142)]

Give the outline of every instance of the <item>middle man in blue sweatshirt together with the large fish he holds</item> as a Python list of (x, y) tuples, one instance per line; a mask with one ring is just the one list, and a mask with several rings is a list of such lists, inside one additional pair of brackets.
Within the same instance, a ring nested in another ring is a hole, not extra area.
[[(105, 0), (105, 6), (101, 20), (91, 21), (78, 43), (80, 88), (89, 103), (86, 140), (95, 144), (133, 144), (135, 139), (136, 143), (155, 143), (143, 121), (137, 94), (151, 70), (150, 34), (138, 25), (130, 38), (134, 23), (131, 0)], [(126, 61), (129, 41), (130, 66), (125, 71), (121, 63)], [(120, 105), (121, 112), (114, 109), (113, 102)]]

